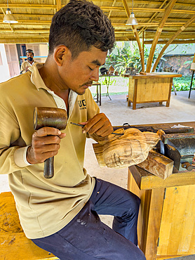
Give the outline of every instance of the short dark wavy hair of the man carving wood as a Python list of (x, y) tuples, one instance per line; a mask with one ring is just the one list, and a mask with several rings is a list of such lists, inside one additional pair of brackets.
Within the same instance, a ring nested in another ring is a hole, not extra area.
[(49, 54), (62, 44), (69, 48), (74, 59), (91, 46), (109, 51), (114, 41), (114, 28), (98, 6), (86, 0), (71, 0), (53, 16)]

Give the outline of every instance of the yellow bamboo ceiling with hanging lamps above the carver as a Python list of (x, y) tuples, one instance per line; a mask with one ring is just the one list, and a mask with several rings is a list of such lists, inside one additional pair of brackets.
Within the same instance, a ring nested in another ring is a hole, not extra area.
[[(51, 19), (67, 3), (68, 0), (8, 0), (9, 8), (18, 20), (17, 24), (9, 25), (3, 22), (7, 1), (1, 0), (0, 43), (48, 42)], [(111, 20), (116, 41), (144, 37), (145, 44), (152, 44), (153, 39), (165, 44), (171, 38), (174, 38), (173, 43), (195, 42), (195, 0), (134, 0), (133, 12), (139, 23), (134, 27), (126, 25), (132, 10), (131, 0), (93, 3), (100, 6)], [(191, 23), (187, 24), (189, 20)], [(159, 32), (158, 36), (156, 32)]]

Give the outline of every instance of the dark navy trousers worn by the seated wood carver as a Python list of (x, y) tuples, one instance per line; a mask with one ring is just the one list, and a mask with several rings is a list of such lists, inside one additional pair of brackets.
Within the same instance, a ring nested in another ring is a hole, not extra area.
[[(144, 260), (137, 248), (139, 207), (130, 191), (96, 179), (90, 199), (65, 228), (32, 241), (61, 260)], [(112, 228), (98, 214), (114, 216)]]

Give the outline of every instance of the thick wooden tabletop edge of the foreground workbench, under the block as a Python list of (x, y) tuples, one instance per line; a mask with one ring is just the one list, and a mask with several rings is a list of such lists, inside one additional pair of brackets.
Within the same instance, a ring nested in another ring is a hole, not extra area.
[(140, 190), (150, 190), (154, 188), (168, 188), (173, 186), (186, 186), (195, 184), (195, 171), (179, 171), (177, 174), (172, 174), (166, 180), (149, 174), (148, 171), (136, 167), (135, 165), (128, 167), (133, 174), (137, 186)]

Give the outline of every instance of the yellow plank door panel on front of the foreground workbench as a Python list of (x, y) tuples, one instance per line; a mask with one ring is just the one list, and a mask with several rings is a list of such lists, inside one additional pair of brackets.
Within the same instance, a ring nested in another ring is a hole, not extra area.
[[(195, 253), (195, 186), (171, 187), (163, 205), (158, 255)], [(171, 242), (170, 242), (171, 241)]]

